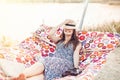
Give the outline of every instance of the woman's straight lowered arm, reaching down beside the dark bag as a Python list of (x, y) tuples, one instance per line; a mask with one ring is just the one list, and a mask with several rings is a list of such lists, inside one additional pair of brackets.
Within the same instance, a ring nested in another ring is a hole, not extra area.
[(79, 51), (81, 49), (81, 43), (79, 43), (74, 51), (73, 60), (74, 60), (74, 67), (78, 68), (79, 66)]

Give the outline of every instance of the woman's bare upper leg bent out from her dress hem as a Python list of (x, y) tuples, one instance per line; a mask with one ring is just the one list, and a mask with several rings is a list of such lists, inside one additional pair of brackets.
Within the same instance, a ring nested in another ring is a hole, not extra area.
[(31, 67), (26, 68), (23, 71), (23, 74), (25, 75), (25, 77), (31, 77), (31, 76), (41, 74), (41, 73), (43, 73), (43, 71), (44, 71), (43, 63), (37, 62), (37, 63), (33, 64)]

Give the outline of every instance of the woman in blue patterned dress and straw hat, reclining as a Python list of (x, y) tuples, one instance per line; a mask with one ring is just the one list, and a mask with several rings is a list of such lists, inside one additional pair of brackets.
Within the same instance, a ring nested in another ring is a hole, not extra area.
[(38, 61), (13, 80), (54, 80), (61, 78), (68, 69), (78, 68), (81, 44), (76, 36), (76, 24), (73, 20), (65, 20), (59, 26), (63, 27), (61, 36), (54, 35), (59, 27), (53, 28), (48, 36), (56, 43), (54, 55)]

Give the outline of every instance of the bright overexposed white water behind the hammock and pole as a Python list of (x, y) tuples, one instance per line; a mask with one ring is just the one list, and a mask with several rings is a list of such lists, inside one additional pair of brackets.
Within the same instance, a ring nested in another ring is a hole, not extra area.
[[(57, 26), (66, 18), (79, 21), (83, 4), (0, 4), (0, 35), (21, 41), (42, 23)], [(89, 3), (83, 25), (120, 21), (120, 6)]]

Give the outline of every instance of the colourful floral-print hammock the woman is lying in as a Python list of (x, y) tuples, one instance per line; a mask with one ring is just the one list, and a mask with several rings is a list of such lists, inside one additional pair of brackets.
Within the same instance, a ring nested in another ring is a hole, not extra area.
[[(59, 28), (56, 36), (59, 36), (62, 30)], [(34, 58), (36, 55), (42, 55), (42, 57), (54, 55), (56, 46), (47, 38), (49, 31), (48, 26), (41, 25), (40, 29), (33, 33), (33, 36), (23, 40), (16, 48), (1, 49), (0, 58), (23, 63), (25, 67), (30, 67), (37, 62)], [(78, 78), (79, 80), (94, 80), (94, 77), (106, 62), (108, 53), (117, 47), (120, 34), (79, 31), (78, 38), (82, 43), (79, 67), (85, 69), (78, 75)], [(0, 73), (2, 74), (2, 69)]]

